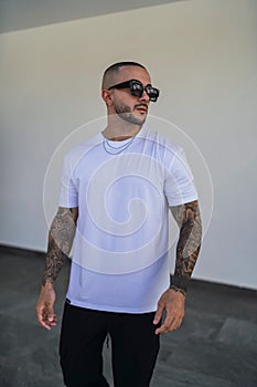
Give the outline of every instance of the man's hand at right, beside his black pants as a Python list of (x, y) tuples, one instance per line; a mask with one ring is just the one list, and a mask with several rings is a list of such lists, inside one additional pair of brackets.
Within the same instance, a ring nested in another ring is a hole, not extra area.
[(184, 317), (185, 296), (181, 292), (175, 292), (168, 289), (158, 302), (158, 310), (153, 320), (157, 325), (162, 317), (163, 312), (167, 312), (163, 324), (156, 330), (156, 334), (172, 332), (180, 327)]

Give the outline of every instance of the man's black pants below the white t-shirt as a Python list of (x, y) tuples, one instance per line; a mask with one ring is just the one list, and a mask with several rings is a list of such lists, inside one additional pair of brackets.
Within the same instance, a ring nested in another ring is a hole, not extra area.
[(60, 356), (67, 387), (108, 387), (103, 345), (111, 338), (115, 387), (149, 387), (160, 347), (154, 313), (93, 311), (65, 304)]

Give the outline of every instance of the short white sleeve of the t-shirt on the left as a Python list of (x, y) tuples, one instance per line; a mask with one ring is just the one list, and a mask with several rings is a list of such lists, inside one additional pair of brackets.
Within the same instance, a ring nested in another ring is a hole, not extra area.
[(77, 187), (74, 179), (74, 168), (71, 157), (66, 156), (63, 161), (60, 207), (75, 208), (78, 207)]

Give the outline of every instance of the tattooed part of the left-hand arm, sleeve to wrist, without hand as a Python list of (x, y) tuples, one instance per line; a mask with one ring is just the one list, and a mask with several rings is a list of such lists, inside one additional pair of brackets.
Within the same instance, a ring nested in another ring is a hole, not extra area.
[(72, 249), (77, 209), (60, 208), (50, 229), (42, 285), (54, 283)]

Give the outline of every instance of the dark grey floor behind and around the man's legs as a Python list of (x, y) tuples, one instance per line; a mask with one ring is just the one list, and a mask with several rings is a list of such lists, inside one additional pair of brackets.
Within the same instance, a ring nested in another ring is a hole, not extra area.
[[(60, 326), (46, 332), (34, 314), (44, 257), (4, 247), (0, 255), (0, 386), (63, 387)], [(68, 265), (56, 282), (60, 318), (67, 276)], [(110, 351), (105, 345), (108, 380)], [(162, 336), (151, 383), (168, 386), (257, 386), (257, 292), (191, 282), (184, 323)]]

